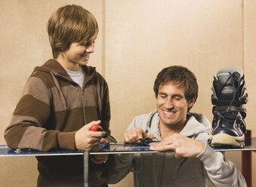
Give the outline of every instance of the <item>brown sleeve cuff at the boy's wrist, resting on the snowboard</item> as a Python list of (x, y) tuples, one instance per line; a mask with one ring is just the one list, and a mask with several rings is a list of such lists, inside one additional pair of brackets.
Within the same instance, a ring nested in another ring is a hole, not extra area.
[(60, 132), (57, 134), (57, 141), (60, 149), (76, 150), (76, 132)]

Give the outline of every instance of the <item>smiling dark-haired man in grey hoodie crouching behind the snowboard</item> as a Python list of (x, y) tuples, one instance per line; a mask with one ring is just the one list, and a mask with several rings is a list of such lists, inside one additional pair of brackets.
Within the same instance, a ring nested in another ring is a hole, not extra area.
[(162, 69), (154, 91), (157, 109), (135, 117), (124, 139), (134, 143), (150, 137), (161, 141), (150, 149), (168, 152), (111, 155), (107, 161), (109, 183), (119, 182), (133, 170), (138, 187), (199, 187), (206, 186), (205, 179), (216, 186), (246, 186), (236, 166), (207, 145), (210, 122), (189, 112), (198, 96), (193, 72), (183, 66)]

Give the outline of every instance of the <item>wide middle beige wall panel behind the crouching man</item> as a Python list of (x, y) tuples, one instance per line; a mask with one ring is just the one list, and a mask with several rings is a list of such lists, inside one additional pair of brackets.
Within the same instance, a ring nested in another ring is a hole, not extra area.
[[(199, 99), (193, 112), (211, 120), (212, 75), (223, 66), (244, 68), (243, 37), (242, 1), (106, 1), (113, 135), (121, 141), (135, 115), (156, 108), (153, 81), (171, 65), (196, 74)], [(240, 152), (227, 156), (241, 168)]]

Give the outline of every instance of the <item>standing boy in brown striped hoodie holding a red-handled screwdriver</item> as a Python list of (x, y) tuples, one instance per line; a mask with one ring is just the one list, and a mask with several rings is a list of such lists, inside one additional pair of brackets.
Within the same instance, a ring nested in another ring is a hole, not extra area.
[[(95, 68), (87, 66), (94, 52), (98, 26), (94, 16), (78, 5), (63, 6), (48, 20), (54, 59), (35, 67), (28, 78), (5, 140), (12, 149), (54, 151), (91, 150), (104, 132), (90, 130), (100, 124), (109, 130), (109, 90)], [(103, 161), (89, 163), (89, 185), (107, 186)], [(83, 157), (37, 157), (37, 186), (83, 186)]]

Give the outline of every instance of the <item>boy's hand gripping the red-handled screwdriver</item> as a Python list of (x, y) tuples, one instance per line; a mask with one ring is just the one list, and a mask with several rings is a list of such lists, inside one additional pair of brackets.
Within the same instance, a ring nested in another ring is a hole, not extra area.
[(84, 127), (79, 129), (75, 135), (76, 149), (90, 151), (94, 147), (99, 146), (100, 139), (105, 135), (103, 131), (91, 131), (92, 124), (100, 124), (100, 121), (91, 121), (89, 124), (85, 124)]

